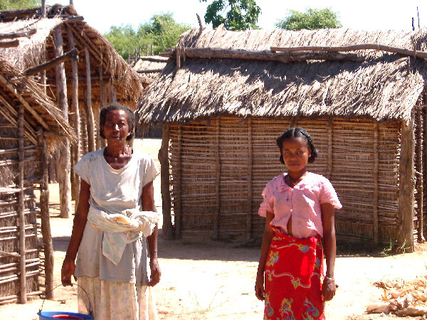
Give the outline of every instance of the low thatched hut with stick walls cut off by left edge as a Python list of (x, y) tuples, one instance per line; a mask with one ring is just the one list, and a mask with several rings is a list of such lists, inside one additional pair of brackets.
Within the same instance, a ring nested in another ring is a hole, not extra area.
[(51, 283), (46, 164), (48, 149), (65, 139), (75, 142), (73, 129), (43, 87), (0, 55), (0, 304), (41, 294), (40, 277)]

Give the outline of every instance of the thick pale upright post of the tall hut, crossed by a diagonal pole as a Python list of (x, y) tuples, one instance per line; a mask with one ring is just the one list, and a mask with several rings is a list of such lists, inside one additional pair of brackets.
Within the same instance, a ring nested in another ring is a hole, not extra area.
[[(55, 28), (56, 57), (63, 55), (62, 26)], [(59, 109), (63, 112), (63, 117), (68, 121), (68, 101), (67, 101), (67, 80), (65, 78), (64, 63), (56, 66), (56, 95)], [(71, 183), (70, 183), (70, 143), (63, 142), (60, 147), (56, 176), (59, 183), (60, 194), (60, 217), (70, 218), (71, 211)]]

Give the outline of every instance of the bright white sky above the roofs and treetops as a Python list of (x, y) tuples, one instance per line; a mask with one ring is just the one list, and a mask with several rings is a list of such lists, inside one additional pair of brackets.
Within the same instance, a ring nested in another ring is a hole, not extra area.
[[(208, 3), (212, 2), (208, 0)], [(260, 28), (275, 28), (275, 23), (285, 18), (289, 10), (305, 11), (307, 8), (330, 8), (339, 14), (344, 28), (358, 30), (396, 29), (411, 31), (412, 20), (418, 28), (417, 6), (421, 27), (427, 27), (427, 1), (406, 0), (255, 0), (261, 8), (258, 17)], [(70, 4), (69, 0), (47, 0), (47, 4)], [(204, 22), (206, 2), (199, 0), (74, 0), (78, 14), (85, 18), (90, 26), (101, 33), (110, 30), (110, 26), (131, 24), (135, 29), (140, 23), (148, 22), (154, 14), (171, 12), (175, 21), (198, 27), (196, 14)]]

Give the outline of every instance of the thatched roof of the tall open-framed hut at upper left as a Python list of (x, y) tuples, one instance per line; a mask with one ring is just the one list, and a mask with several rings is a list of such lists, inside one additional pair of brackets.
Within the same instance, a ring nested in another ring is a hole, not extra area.
[[(93, 99), (99, 99), (99, 75), (98, 66), (102, 62), (102, 73), (105, 81), (112, 78), (117, 95), (117, 100), (135, 107), (139, 96), (144, 91), (148, 81), (144, 76), (138, 75), (132, 70), (125, 60), (112, 47), (112, 44), (102, 36), (95, 28), (91, 28), (78, 16), (72, 6), (48, 6), (48, 16), (40, 16), (40, 9), (28, 9), (22, 11), (1, 11), (0, 33), (14, 33), (35, 29), (36, 33), (30, 38), (19, 38), (19, 46), (16, 48), (0, 48), (0, 55), (16, 65), (20, 70), (41, 63), (43, 50), (46, 48), (46, 60), (55, 58), (53, 48), (53, 29), (63, 26), (64, 53), (70, 50), (67, 30), (73, 31), (75, 47), (79, 50), (79, 97), (85, 97), (85, 48), (89, 49)], [(23, 14), (20, 14), (23, 13)], [(15, 16), (15, 18), (11, 18)], [(16, 18), (16, 16), (18, 18)], [(71, 76), (71, 63), (65, 63), (65, 74)], [(83, 77), (81, 77), (83, 75)], [(55, 68), (47, 72), (48, 82), (55, 82)], [(70, 81), (68, 81), (70, 83)], [(53, 93), (54, 93), (53, 87)]]

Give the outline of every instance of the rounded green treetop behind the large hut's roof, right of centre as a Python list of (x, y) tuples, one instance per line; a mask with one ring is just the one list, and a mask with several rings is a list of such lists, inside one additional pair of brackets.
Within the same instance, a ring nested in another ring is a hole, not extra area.
[(338, 14), (328, 8), (308, 8), (305, 12), (290, 10), (288, 16), (275, 23), (275, 26), (286, 30), (315, 30), (342, 27)]

